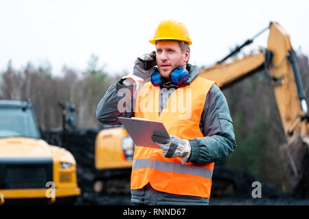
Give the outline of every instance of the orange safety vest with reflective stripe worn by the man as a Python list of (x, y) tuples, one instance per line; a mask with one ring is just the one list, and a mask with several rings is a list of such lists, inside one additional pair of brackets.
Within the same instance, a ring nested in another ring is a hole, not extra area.
[[(160, 88), (153, 86), (151, 82), (145, 83), (137, 95), (135, 117), (160, 121), (170, 135), (182, 139), (204, 137), (199, 124), (207, 92), (214, 83), (203, 77), (196, 77), (190, 85), (177, 88), (172, 92), (160, 116)], [(181, 164), (181, 158), (166, 158), (161, 149), (136, 145), (131, 190), (141, 189), (150, 182), (152, 188), (161, 192), (209, 198), (213, 170), (214, 163)]]

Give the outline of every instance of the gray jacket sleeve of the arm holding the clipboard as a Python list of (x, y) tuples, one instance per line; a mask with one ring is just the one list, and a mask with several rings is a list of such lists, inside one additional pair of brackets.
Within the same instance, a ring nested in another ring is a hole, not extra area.
[(189, 140), (187, 162), (203, 165), (228, 157), (236, 148), (233, 121), (224, 94), (215, 84), (209, 90), (200, 128), (205, 137)]

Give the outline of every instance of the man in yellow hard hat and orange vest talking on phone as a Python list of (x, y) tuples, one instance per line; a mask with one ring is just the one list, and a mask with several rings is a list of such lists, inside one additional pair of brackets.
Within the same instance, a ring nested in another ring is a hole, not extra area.
[(170, 134), (152, 136), (161, 149), (135, 146), (132, 203), (208, 205), (214, 162), (236, 148), (227, 101), (188, 64), (192, 42), (185, 25), (161, 21), (150, 43), (156, 51), (137, 58), (133, 73), (108, 88), (97, 118), (107, 125), (121, 124), (119, 116), (148, 118)]

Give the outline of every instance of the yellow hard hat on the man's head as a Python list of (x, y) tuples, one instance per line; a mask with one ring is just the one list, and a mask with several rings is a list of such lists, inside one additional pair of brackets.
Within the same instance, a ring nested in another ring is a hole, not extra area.
[(183, 23), (173, 20), (161, 21), (159, 23), (153, 40), (149, 40), (149, 42), (156, 44), (157, 40), (179, 40), (192, 44), (187, 27)]

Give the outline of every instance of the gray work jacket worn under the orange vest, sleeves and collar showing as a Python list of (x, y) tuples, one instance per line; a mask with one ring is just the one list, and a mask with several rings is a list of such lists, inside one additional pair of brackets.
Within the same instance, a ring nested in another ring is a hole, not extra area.
[[(187, 81), (188, 83), (191, 83), (198, 76), (198, 68), (187, 64), (187, 70), (190, 73)], [(134, 116), (134, 98), (132, 98), (133, 86), (126, 86), (122, 82), (123, 79), (119, 79), (119, 81), (113, 83), (113, 85), (106, 91), (106, 94), (101, 99), (100, 103), (98, 103), (96, 116), (98, 120), (105, 125), (121, 125), (118, 120), (119, 116), (127, 118)], [(168, 89), (178, 88), (178, 86), (168, 86), (166, 83), (163, 87)], [(123, 95), (119, 95), (119, 93), (121, 94), (119, 90), (122, 88), (130, 90), (129, 94), (123, 93)], [(162, 108), (168, 101), (168, 99), (163, 99), (163, 96), (166, 95), (162, 94), (162, 92), (166, 90), (167, 89), (161, 89), (160, 92), (159, 112), (161, 112)], [(119, 101), (123, 102), (125, 95), (126, 101), (123, 105), (125, 105), (126, 108), (122, 108), (122, 112), (119, 112)], [(207, 93), (204, 110), (200, 121), (200, 129), (205, 137), (189, 140), (192, 151), (187, 162), (192, 162), (199, 165), (216, 162), (221, 159), (225, 159), (236, 148), (235, 134), (233, 132), (233, 121), (229, 113), (227, 100), (215, 84), (211, 86), (209, 92)], [(139, 195), (136, 196), (135, 194), (140, 193), (139, 190), (133, 190), (131, 193), (133, 203), (145, 203), (145, 201), (141, 201), (145, 197), (141, 198)], [(177, 195), (173, 195), (173, 198), (176, 196)], [(179, 197), (182, 197), (181, 199), (183, 199), (183, 196)], [(192, 198), (185, 199), (187, 200), (186, 204), (190, 203), (188, 200), (191, 199)], [(198, 202), (207, 204), (208, 201), (205, 201), (206, 199), (207, 198), (198, 199)], [(195, 205), (196, 197), (193, 197), (192, 200), (192, 203)], [(168, 203), (170, 203), (169, 200)]]

